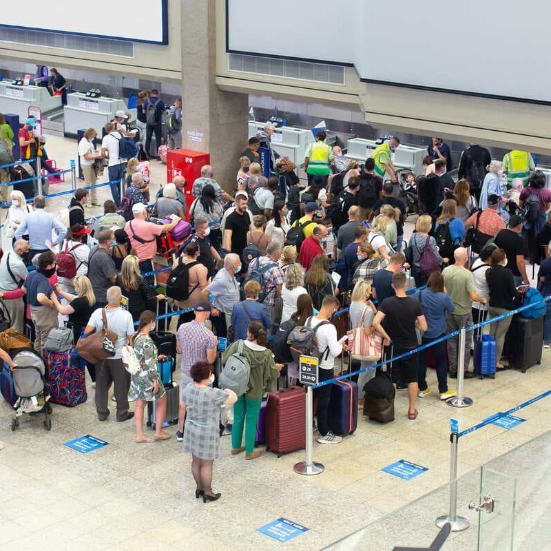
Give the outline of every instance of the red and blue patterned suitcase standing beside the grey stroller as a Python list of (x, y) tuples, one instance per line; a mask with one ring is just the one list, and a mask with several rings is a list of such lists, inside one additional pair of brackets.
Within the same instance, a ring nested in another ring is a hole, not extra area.
[(64, 352), (43, 351), (48, 372), (50, 400), (62, 406), (78, 406), (87, 400), (85, 361), (76, 349)]

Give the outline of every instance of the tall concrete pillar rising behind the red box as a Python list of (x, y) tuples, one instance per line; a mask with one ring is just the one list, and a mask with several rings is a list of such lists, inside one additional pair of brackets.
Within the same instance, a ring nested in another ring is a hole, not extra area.
[(249, 96), (216, 87), (216, 0), (182, 3), (182, 144), (209, 152), (214, 178), (236, 187), (239, 154), (247, 147)]

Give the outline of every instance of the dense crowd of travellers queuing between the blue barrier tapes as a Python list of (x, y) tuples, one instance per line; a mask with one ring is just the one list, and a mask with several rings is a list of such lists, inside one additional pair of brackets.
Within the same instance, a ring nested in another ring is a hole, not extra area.
[[(147, 101), (143, 109), (147, 110)], [(245, 451), (245, 459), (256, 459), (261, 455), (255, 450), (255, 434), (264, 393), (272, 391), (280, 377), (296, 382), (296, 364), (283, 361), (282, 353), (271, 349), (269, 335), (278, 326), (289, 320), (319, 326), (320, 381), (333, 377), (335, 358), (349, 351), (341, 338), (349, 329), (378, 333), (387, 358), (434, 342), (430, 352), (438, 395), (448, 399), (455, 396), (448, 378), (457, 377), (459, 338), (440, 338), (487, 315), (496, 317), (514, 309), (523, 292), (519, 286), (528, 284), (528, 243), (537, 242), (542, 258), (549, 256), (551, 191), (543, 185), (542, 174), (528, 174), (520, 191), (513, 178), (510, 190), (519, 192), (509, 193), (497, 177), (500, 163), (483, 156), (488, 162), (484, 174), (476, 173), (477, 186), (472, 168), (480, 157), (475, 155), (476, 145), (461, 156), (459, 172), (464, 177), (457, 183), (446, 178), (451, 157), (439, 138), (433, 138), (429, 147), (426, 174), (404, 177), (417, 194), (415, 231), (406, 242), (404, 222), (410, 205), (396, 196), (393, 185), (403, 176), (392, 163), (398, 138), (377, 147), (361, 165), (345, 162), (340, 147), (326, 145), (324, 132), (319, 132), (306, 154), (308, 185), (302, 189), (295, 165), (271, 147), (274, 127), (267, 123), (236, 160), (233, 193), (222, 189), (213, 168), (205, 165), (194, 182), (176, 176), (152, 198), (147, 167), (134, 158), (121, 161), (114, 151), (118, 139), (110, 136), (126, 132), (123, 126), (106, 125), (101, 152), (92, 145), (94, 129), (88, 129), (79, 144), (85, 181), (90, 179), (87, 184), (95, 183), (89, 167), (98, 157), (108, 157), (111, 182), (124, 180), (125, 169), (129, 173), (123, 196), (123, 187), (112, 186), (112, 200), (103, 203), (103, 216), (93, 222), (85, 220), (84, 207), (89, 200), (97, 204), (97, 196), (90, 197), (87, 189), (76, 190), (65, 223), (45, 211), (43, 196), (36, 196), (30, 207), (21, 192), (12, 191), (7, 226), (13, 247), (0, 261), (0, 298), (16, 331), (23, 333), (32, 325), (39, 353), (50, 330), (59, 326), (58, 314), (72, 324), (75, 343), (83, 331), (101, 329), (107, 320), (118, 335), (115, 354), (99, 367), (87, 365), (96, 388), (99, 421), (110, 415), (107, 397), (113, 385), (116, 419), (123, 422), (135, 415), (136, 442), (168, 439), (162, 428), (166, 395), (156, 369), (160, 356), (149, 333), (156, 329), (157, 313), (170, 309), (165, 293), (154, 287), (152, 260), (158, 253), (171, 259), (172, 271), (185, 273), (182, 281), (187, 286), (183, 298), (173, 304), (184, 310), (176, 324), (182, 387), (176, 439), (192, 455), (195, 495), (203, 501), (220, 497), (212, 490), (211, 479), (219, 454), (221, 407), (233, 404), (231, 454)], [(258, 164), (261, 145), (270, 152), (268, 178)], [(391, 176), (390, 181), (384, 182), (384, 174)], [(187, 185), (194, 195), (189, 209), (194, 232), (172, 240), (174, 249), (168, 251), (162, 238), (188, 215), (183, 194)], [(120, 208), (125, 198), (126, 210)], [(152, 199), (156, 216), (147, 207)], [(509, 203), (517, 209), (510, 209)], [(477, 205), (485, 205), (484, 210)], [(535, 218), (529, 217), (532, 210)], [(527, 231), (530, 240), (520, 235)], [(478, 253), (472, 264), (468, 247)], [(72, 257), (73, 275), (60, 270), (60, 255), (64, 260)], [(541, 262), (539, 279), (544, 294), (551, 294), (547, 262)], [(36, 269), (28, 271), (30, 264)], [(411, 287), (418, 289), (406, 293)], [(335, 320), (335, 312), (343, 308), (346, 313)], [(508, 322), (510, 318), (490, 325), (497, 342), (497, 368), (504, 367), (501, 351)], [(465, 377), (474, 377), (472, 331), (467, 335)], [(229, 345), (222, 365), (236, 351), (251, 365), (243, 395), (212, 385), (219, 374), (214, 365), (221, 339)], [(143, 362), (140, 376), (125, 371), (126, 344), (134, 346)], [(546, 322), (545, 346), (550, 344), (551, 322)], [(352, 357), (349, 370), (370, 363)], [(428, 353), (422, 351), (392, 364), (393, 384), (408, 394), (409, 419), (419, 414), (417, 399), (431, 392), (426, 382), (428, 363)], [(374, 375), (373, 370), (360, 375), (360, 393)], [(330, 386), (316, 390), (320, 444), (342, 441), (329, 428), (330, 391)], [(129, 396), (136, 399), (134, 412), (129, 410)], [(149, 437), (143, 431), (143, 418), (145, 404), (152, 399), (158, 402), (157, 423)]]

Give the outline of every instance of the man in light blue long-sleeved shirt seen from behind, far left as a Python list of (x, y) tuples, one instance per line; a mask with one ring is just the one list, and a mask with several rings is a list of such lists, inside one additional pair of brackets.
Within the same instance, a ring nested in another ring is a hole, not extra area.
[(15, 238), (21, 239), (27, 233), (29, 234), (29, 258), (32, 260), (34, 255), (49, 251), (46, 242), (52, 239), (52, 230), (57, 234), (53, 245), (58, 245), (65, 239), (67, 228), (49, 212), (44, 210), (46, 201), (41, 195), (37, 195), (33, 201), (34, 212), (31, 212), (23, 218), (19, 227), (15, 231)]

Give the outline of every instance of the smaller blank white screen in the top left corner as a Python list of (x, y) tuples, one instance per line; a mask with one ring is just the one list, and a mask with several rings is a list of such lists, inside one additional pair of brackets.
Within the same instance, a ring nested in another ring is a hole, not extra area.
[(10, 2), (0, 24), (34, 30), (166, 43), (167, 0), (27, 0)]

